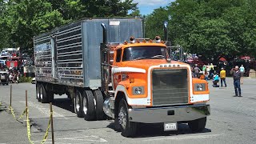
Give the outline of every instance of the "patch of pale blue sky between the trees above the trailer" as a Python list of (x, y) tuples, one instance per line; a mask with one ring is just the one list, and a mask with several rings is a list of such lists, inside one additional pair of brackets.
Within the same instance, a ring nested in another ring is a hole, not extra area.
[(160, 6), (167, 6), (170, 2), (174, 1), (175, 0), (134, 0), (134, 2), (138, 2), (138, 10), (140, 10), (142, 15), (151, 14), (154, 9)]

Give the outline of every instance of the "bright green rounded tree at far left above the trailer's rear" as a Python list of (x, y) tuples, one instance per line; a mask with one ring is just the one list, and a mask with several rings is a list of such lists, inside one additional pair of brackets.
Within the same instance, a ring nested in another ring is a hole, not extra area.
[(9, 1), (2, 18), (2, 25), (10, 33), (9, 46), (15, 43), (23, 50), (33, 47), (35, 35), (65, 23), (62, 14), (52, 10), (51, 4), (43, 0)]

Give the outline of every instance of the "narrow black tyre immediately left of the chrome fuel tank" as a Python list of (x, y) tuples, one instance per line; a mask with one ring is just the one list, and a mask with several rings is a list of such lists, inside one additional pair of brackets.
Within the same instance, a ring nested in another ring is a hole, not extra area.
[(97, 120), (105, 119), (106, 114), (103, 111), (104, 98), (102, 95), (102, 91), (94, 90), (94, 98), (96, 101), (96, 118), (97, 118)]

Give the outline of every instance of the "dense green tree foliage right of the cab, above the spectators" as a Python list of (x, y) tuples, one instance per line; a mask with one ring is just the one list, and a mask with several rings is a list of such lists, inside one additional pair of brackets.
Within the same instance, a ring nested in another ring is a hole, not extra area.
[(167, 20), (171, 43), (190, 53), (208, 58), (254, 56), (255, 8), (254, 0), (176, 0), (146, 18), (146, 36), (163, 37), (162, 22)]

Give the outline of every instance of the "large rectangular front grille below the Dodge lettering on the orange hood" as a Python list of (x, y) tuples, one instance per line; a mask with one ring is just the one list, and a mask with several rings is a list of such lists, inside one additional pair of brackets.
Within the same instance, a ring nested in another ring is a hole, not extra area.
[(155, 69), (152, 71), (153, 106), (188, 103), (186, 69)]

